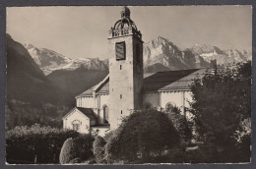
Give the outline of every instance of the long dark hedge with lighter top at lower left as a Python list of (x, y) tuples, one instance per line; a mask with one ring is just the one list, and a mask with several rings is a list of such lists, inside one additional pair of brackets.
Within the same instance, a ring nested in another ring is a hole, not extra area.
[(16, 127), (6, 132), (6, 160), (8, 163), (58, 163), (63, 142), (78, 136), (75, 131), (38, 124)]

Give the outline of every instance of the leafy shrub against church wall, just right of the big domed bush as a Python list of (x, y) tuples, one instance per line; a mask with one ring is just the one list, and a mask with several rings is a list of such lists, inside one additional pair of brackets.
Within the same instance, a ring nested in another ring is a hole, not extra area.
[(175, 129), (178, 131), (181, 141), (190, 141), (192, 138), (192, 132), (189, 128), (189, 122), (184, 115), (181, 115), (180, 109), (174, 106), (172, 109), (167, 110), (165, 113), (172, 122)]

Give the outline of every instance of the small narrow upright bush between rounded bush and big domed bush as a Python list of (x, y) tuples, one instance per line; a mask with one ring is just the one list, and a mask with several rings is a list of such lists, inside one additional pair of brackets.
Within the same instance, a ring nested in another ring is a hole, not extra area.
[(101, 137), (96, 137), (96, 140), (94, 141), (94, 154), (96, 157), (96, 162), (101, 163), (104, 158), (104, 145), (106, 141)]

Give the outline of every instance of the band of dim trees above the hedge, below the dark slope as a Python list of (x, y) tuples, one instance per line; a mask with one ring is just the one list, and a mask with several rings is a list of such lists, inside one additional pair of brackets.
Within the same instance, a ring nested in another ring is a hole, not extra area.
[(70, 110), (64, 105), (51, 103), (32, 104), (18, 100), (6, 101), (6, 130), (16, 126), (32, 126), (38, 123), (43, 126), (62, 127), (62, 117)]

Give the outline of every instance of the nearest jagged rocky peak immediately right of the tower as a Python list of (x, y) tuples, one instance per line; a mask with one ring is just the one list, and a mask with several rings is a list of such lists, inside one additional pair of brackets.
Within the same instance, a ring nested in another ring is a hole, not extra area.
[[(182, 51), (171, 41), (157, 37), (144, 44), (144, 68), (158, 64), (169, 70), (192, 69), (208, 66), (201, 56), (194, 55), (192, 51), (186, 49)], [(162, 68), (161, 68), (162, 69)]]

